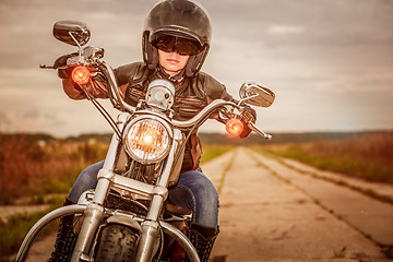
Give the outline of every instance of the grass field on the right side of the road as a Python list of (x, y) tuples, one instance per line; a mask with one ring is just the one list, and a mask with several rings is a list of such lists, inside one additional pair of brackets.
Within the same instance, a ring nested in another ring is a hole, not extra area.
[(393, 183), (393, 132), (257, 148), (346, 176)]

